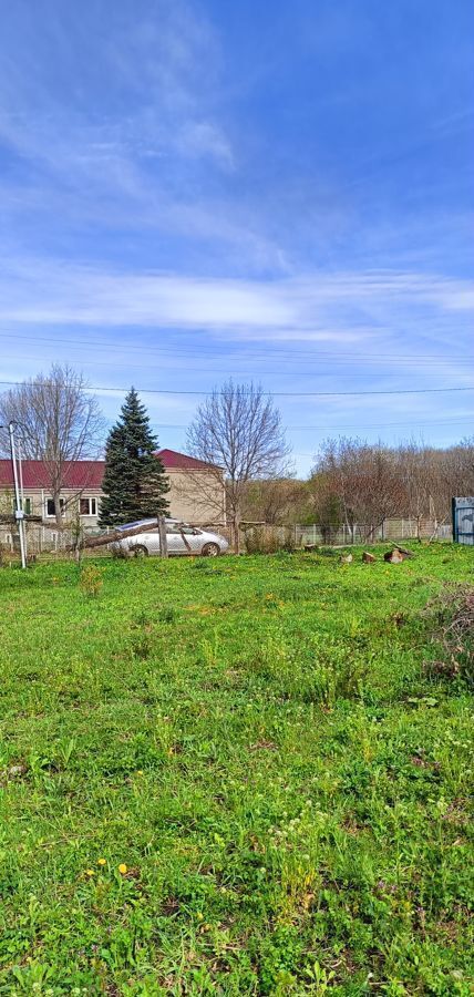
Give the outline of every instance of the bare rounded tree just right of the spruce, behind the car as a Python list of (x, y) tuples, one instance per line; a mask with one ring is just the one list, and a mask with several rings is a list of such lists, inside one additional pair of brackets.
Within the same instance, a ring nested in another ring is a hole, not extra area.
[[(221, 482), (224, 475), (227, 516), (238, 551), (247, 482), (288, 473), (290, 450), (280, 413), (260, 386), (235, 384), (230, 380), (199, 405), (187, 442), (194, 456), (215, 469), (214, 486), (216, 479)], [(212, 477), (210, 472), (209, 483)], [(210, 489), (203, 497), (209, 502)]]

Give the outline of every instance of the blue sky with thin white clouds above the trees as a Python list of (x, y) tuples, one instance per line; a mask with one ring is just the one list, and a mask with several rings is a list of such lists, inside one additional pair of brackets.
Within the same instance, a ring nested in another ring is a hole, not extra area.
[[(474, 384), (473, 37), (470, 0), (9, 4), (0, 378), (254, 379), (300, 473), (472, 435), (474, 391), (308, 393)], [(198, 398), (143, 398), (185, 448)]]

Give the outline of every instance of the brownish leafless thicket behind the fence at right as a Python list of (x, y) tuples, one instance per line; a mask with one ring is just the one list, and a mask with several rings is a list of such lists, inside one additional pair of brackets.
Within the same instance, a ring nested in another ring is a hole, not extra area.
[(474, 493), (474, 439), (443, 449), (328, 439), (308, 481), (253, 482), (245, 517), (274, 524), (318, 523), (330, 537), (359, 526), (370, 539), (384, 520), (449, 522), (454, 495)]

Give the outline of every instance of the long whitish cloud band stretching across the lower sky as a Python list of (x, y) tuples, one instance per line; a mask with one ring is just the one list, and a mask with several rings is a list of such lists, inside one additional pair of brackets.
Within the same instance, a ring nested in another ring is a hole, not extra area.
[[(199, 329), (244, 339), (399, 342), (452, 337), (474, 312), (474, 287), (440, 275), (327, 274), (280, 280), (202, 279), (4, 259), (3, 322)], [(403, 329), (403, 323), (405, 329)]]

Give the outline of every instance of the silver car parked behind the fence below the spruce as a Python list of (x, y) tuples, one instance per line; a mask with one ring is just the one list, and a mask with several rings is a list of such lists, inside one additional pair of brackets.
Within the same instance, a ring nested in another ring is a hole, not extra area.
[[(112, 545), (115, 549), (122, 549), (135, 557), (146, 557), (148, 554), (159, 554), (159, 531), (157, 526), (152, 526), (156, 522), (151, 521), (148, 532), (140, 533), (135, 536), (126, 536), (123, 541), (118, 541)], [(145, 521), (144, 521), (145, 524)], [(121, 530), (131, 530), (138, 526), (138, 523), (127, 523)], [(218, 557), (228, 549), (228, 543), (224, 536), (218, 533), (208, 533), (206, 530), (199, 530), (197, 526), (187, 526), (186, 523), (179, 523), (175, 520), (166, 521), (166, 539), (168, 554), (186, 555), (200, 554), (204, 557)]]

